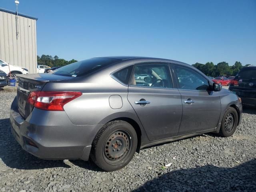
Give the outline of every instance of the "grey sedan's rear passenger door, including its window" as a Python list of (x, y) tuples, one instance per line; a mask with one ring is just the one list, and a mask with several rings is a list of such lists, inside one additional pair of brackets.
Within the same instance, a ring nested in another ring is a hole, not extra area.
[[(147, 77), (135, 77), (147, 74)], [(178, 134), (182, 116), (180, 93), (173, 89), (167, 63), (141, 63), (134, 66), (128, 87), (128, 101), (140, 119), (149, 140)]]

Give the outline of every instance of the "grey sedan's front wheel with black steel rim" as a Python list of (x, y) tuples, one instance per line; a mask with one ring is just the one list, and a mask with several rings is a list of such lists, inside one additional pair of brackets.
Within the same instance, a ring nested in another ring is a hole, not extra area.
[(236, 109), (233, 107), (228, 107), (221, 122), (219, 135), (222, 137), (232, 136), (236, 131), (237, 124), (238, 114)]

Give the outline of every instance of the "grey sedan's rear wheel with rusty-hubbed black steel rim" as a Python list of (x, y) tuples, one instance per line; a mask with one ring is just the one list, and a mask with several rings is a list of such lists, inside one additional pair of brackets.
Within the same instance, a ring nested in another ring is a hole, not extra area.
[(121, 120), (108, 122), (94, 138), (90, 158), (102, 170), (119, 170), (132, 160), (137, 143), (131, 124)]

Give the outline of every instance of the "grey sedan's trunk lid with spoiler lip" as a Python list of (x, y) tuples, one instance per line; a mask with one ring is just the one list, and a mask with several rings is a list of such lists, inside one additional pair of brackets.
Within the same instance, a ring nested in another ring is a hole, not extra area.
[(17, 77), (19, 79), (17, 88), (18, 111), (24, 119), (26, 119), (33, 110), (33, 106), (27, 102), (30, 92), (41, 91), (44, 85), (48, 82), (74, 78), (52, 74), (27, 74), (17, 75)]

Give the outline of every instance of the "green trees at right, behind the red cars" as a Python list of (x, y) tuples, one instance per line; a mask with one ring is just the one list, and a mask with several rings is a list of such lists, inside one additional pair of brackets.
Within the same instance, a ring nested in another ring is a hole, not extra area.
[[(250, 64), (247, 64), (245, 66), (249, 66)], [(236, 76), (236, 74), (239, 72), (242, 66), (242, 63), (239, 61), (236, 61), (234, 65), (229, 66), (227, 62), (220, 62), (217, 65), (214, 65), (213, 62), (207, 62), (206, 64), (201, 63), (195, 63), (192, 64), (195, 68), (202, 71), (207, 76)]]

